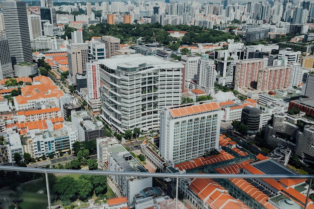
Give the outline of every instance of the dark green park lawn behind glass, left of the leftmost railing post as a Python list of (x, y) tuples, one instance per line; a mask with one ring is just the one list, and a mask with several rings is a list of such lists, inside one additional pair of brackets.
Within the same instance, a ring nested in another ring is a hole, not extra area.
[(23, 193), (21, 197), (23, 202), (19, 205), (23, 209), (46, 209), (48, 206), (48, 198), (46, 194), (46, 187), (41, 181), (25, 184), (22, 186)]

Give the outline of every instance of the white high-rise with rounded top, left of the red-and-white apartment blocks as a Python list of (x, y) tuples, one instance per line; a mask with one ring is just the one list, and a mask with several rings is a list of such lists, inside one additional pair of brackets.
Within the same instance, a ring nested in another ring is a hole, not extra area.
[(204, 89), (214, 88), (216, 74), (217, 72), (214, 60), (202, 55), (197, 68), (197, 84), (199, 87)]

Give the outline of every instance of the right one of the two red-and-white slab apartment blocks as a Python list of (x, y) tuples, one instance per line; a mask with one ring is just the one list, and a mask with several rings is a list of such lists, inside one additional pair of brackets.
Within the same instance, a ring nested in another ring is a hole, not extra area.
[(292, 68), (289, 66), (271, 66), (258, 71), (257, 90), (269, 92), (285, 90), (291, 86)]

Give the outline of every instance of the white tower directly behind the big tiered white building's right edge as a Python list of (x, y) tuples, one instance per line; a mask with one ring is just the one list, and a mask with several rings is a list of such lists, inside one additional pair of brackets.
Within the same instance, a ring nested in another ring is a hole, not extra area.
[(198, 61), (201, 57), (195, 55), (183, 55), (181, 61), (185, 64), (185, 80), (197, 80)]

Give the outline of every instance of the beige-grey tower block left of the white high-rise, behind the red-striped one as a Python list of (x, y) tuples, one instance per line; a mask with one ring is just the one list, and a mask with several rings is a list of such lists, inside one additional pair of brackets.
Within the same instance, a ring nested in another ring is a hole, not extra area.
[(76, 74), (86, 73), (88, 62), (88, 44), (67, 45), (69, 77), (73, 85), (76, 85)]

